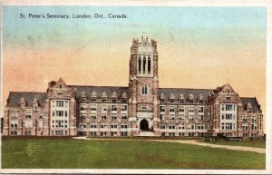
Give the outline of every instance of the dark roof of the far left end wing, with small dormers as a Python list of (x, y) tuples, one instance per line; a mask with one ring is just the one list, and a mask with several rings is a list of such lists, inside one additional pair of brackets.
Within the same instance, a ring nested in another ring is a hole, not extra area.
[(46, 92), (10, 92), (6, 102), (7, 106), (19, 106), (21, 98), (24, 98), (24, 101), (28, 106), (33, 105), (34, 98), (37, 99), (37, 102), (44, 106), (44, 101), (47, 98)]

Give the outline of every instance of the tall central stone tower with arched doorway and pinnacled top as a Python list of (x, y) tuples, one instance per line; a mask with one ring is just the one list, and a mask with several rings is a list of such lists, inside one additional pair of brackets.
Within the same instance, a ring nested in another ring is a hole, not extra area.
[(147, 131), (156, 134), (159, 126), (157, 42), (145, 33), (141, 40), (133, 39), (132, 42), (129, 92), (131, 135)]

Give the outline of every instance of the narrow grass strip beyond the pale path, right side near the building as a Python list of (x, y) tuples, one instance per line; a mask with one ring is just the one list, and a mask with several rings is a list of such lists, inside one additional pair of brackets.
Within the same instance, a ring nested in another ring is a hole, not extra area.
[(266, 148), (266, 141), (200, 141), (200, 142), (219, 144), (219, 145)]

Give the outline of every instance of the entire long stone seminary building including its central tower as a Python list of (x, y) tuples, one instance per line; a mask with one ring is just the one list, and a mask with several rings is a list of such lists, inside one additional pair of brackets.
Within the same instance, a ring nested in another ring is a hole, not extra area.
[(263, 135), (256, 98), (229, 84), (216, 89), (160, 88), (157, 42), (133, 39), (128, 87), (67, 85), (46, 92), (10, 92), (4, 135), (203, 136)]

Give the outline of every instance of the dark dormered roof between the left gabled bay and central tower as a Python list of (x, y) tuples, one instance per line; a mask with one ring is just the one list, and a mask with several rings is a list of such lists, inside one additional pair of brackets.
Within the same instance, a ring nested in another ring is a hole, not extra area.
[(107, 97), (112, 96), (112, 92), (116, 92), (118, 98), (121, 97), (123, 92), (128, 94), (129, 88), (128, 87), (120, 87), (120, 86), (81, 86), (81, 85), (70, 85), (70, 87), (75, 88), (76, 90), (76, 97), (79, 98), (84, 91), (87, 97), (91, 97), (92, 92), (96, 92), (97, 97), (102, 96), (102, 92), (107, 93)]

